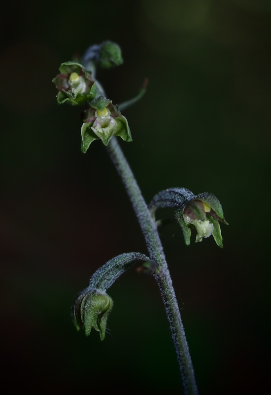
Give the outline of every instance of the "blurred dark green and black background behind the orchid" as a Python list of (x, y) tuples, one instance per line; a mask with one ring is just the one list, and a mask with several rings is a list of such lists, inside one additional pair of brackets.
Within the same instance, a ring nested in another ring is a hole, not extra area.
[[(200, 394), (265, 393), (270, 318), (271, 3), (265, 0), (8, 2), (1, 17), (1, 370), (15, 392), (182, 394), (155, 280), (130, 269), (109, 289), (103, 342), (70, 306), (94, 271), (146, 253), (101, 141), (80, 151), (81, 109), (58, 106), (62, 62), (113, 40), (124, 64), (98, 74), (124, 115), (120, 140), (147, 202), (211, 192), (224, 248), (161, 230)], [(195, 235), (192, 236), (193, 239)], [(261, 391), (260, 391), (261, 390)]]

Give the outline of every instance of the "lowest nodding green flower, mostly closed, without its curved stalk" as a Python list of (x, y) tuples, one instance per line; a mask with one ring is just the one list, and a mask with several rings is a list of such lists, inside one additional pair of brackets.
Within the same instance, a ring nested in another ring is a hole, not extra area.
[(83, 328), (89, 336), (92, 327), (100, 332), (104, 339), (108, 314), (113, 301), (105, 292), (83, 291), (73, 305), (73, 323), (77, 330)]

